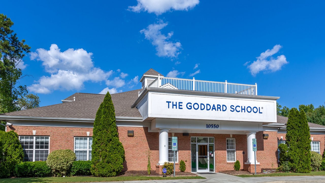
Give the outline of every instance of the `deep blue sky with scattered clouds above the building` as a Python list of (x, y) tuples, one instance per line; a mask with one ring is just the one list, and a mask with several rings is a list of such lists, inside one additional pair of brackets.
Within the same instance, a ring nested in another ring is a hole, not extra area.
[(31, 46), (20, 67), (32, 76), (19, 83), (46, 106), (75, 92), (141, 88), (153, 68), (257, 83), (259, 95), (279, 96), (282, 106), (324, 104), (324, 1), (158, 2), (2, 2), (0, 12)]

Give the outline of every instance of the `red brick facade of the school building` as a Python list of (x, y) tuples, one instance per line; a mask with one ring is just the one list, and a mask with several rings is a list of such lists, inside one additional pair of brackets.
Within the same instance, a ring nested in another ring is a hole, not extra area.
[[(50, 151), (58, 149), (71, 149), (74, 147), (74, 137), (87, 137), (87, 132), (92, 136), (92, 128), (77, 127), (41, 127), (41, 126), (12, 126), (19, 136), (32, 136), (33, 130), (36, 130), (36, 136), (50, 136)], [(10, 130), (8, 128), (8, 130)], [(134, 130), (134, 136), (128, 137), (127, 131)], [(123, 170), (147, 170), (147, 152), (151, 152), (151, 168), (152, 170), (161, 169), (156, 167), (159, 161), (159, 133), (148, 132), (147, 127), (118, 127), (119, 138), (125, 150), (125, 163)], [(268, 134), (268, 139), (263, 139), (263, 134)], [(169, 137), (172, 133), (169, 133)], [(184, 160), (186, 171), (191, 171), (191, 137), (214, 137), (214, 157), (215, 172), (223, 170), (233, 170), (234, 163), (227, 162), (226, 138), (230, 138), (229, 134), (189, 134), (183, 136), (182, 133), (175, 133), (178, 137), (178, 160)], [(257, 171), (261, 169), (274, 169), (278, 167), (278, 140), (280, 137), (285, 139), (285, 134), (277, 132), (258, 132), (257, 138)], [(314, 141), (320, 141), (321, 152), (325, 149), (324, 135), (311, 135)], [(254, 166), (244, 164), (247, 161), (247, 138), (246, 135), (232, 135), (236, 139), (236, 160), (240, 161), (241, 169), (253, 172)], [(244, 152), (244, 153), (243, 153)], [(178, 168), (178, 163), (176, 163)]]

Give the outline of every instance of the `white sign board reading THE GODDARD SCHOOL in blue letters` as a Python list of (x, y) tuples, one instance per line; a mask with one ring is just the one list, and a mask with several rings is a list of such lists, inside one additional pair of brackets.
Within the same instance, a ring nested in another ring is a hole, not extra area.
[(148, 117), (276, 123), (276, 100), (150, 94)]

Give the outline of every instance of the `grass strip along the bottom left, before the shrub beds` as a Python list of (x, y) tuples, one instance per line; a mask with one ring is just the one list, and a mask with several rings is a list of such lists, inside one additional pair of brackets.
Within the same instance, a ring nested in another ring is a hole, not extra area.
[(39, 177), (39, 178), (4, 178), (0, 183), (68, 183), (68, 182), (110, 182), (128, 180), (173, 180), (173, 179), (204, 179), (201, 176), (118, 176), (118, 177), (93, 177), (93, 176), (72, 176), (72, 177)]

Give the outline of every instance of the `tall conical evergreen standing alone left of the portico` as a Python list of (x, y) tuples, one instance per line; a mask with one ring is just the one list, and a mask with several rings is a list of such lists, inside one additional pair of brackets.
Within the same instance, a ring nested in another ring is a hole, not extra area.
[(94, 176), (116, 176), (123, 169), (124, 148), (119, 141), (115, 123), (115, 110), (110, 93), (96, 113), (93, 129), (92, 165)]

